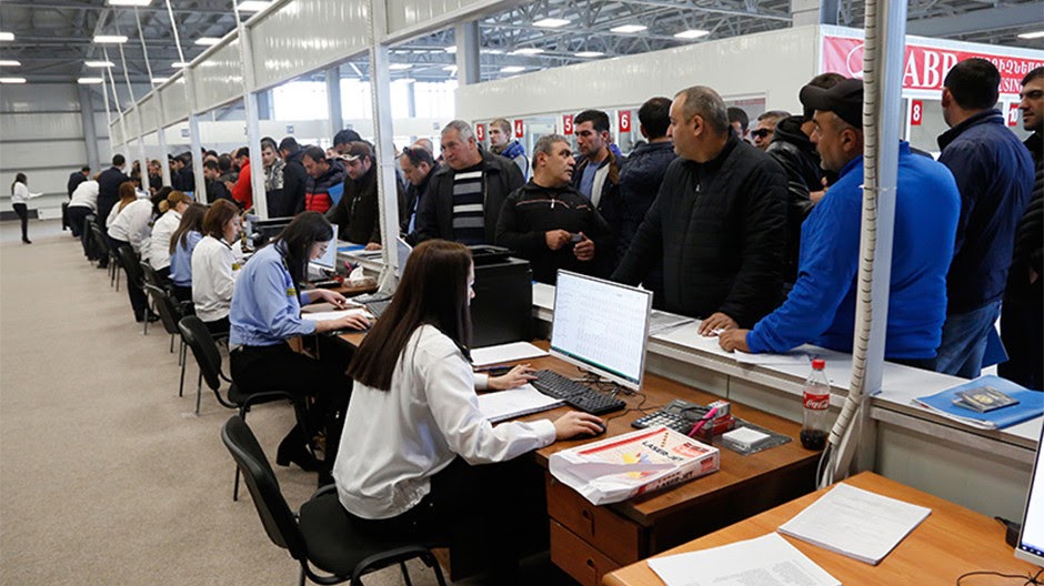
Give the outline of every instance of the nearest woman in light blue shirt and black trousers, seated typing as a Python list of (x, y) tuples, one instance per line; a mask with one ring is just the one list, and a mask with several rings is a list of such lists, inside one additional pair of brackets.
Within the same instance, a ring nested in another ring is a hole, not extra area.
[[(238, 386), (249, 392), (282, 390), (315, 398), (307, 421), (299, 421), (287, 434), (275, 457), (280, 465), (294, 462), (308, 471), (321, 467), (308, 449), (310, 434), (327, 431), (327, 469), (337, 454), (341, 430), (333, 423), (339, 421), (338, 414), (343, 413), (351, 394), (352, 382), (344, 374), (350, 356), (327, 336), (317, 341), (322, 360), (294, 352), (287, 341), (369, 326), (369, 321), (359, 314), (323, 321), (301, 319), (301, 305), (319, 301), (337, 307), (345, 305), (340, 293), (325, 289), (303, 292), (300, 286), (309, 261), (322, 256), (332, 238), (333, 228), (321, 213), (303, 212), (294, 218), (240, 271), (229, 314), (230, 370)], [(194, 254), (199, 254), (199, 246)], [(193, 292), (198, 282), (193, 267)]]

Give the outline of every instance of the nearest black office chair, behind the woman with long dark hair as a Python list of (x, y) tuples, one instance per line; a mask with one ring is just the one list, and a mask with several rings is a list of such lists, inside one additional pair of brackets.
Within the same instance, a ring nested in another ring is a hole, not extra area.
[[(319, 489), (301, 505), (301, 512), (295, 516), (287, 505), (258, 438), (241, 417), (232, 416), (224, 424), (221, 441), (243, 473), (269, 538), (300, 562), (301, 585), (310, 579), (317, 584), (351, 580), (352, 586), (360, 586), (363, 575), (398, 564), (405, 584), (410, 586), (412, 582), (405, 562), (419, 558), (434, 570), (440, 586), (445, 586), (442, 568), (429, 545), (377, 540), (361, 534), (353, 526), (351, 514), (338, 501), (333, 485)], [(317, 574), (312, 566), (329, 575)]]

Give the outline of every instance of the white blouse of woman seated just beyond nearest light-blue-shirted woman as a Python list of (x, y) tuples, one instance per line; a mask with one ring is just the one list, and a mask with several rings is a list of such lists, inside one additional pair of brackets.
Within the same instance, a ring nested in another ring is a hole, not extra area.
[(195, 315), (215, 322), (229, 314), (239, 261), (224, 240), (203, 236), (192, 251), (192, 303)]

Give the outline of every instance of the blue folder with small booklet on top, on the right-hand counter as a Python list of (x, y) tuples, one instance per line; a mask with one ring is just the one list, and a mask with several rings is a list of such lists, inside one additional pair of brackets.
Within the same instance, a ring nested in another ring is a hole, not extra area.
[(981, 430), (1003, 430), (1044, 415), (1044, 393), (992, 374), (916, 397), (913, 403)]

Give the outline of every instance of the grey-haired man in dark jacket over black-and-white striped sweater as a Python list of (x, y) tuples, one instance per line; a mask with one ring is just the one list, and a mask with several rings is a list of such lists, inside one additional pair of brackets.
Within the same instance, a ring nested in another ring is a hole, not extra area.
[(442, 129), (442, 156), (446, 164), (432, 175), (416, 214), (416, 242), (492, 244), (504, 200), (522, 186), (519, 165), (480, 151), (471, 124), (463, 120)]

